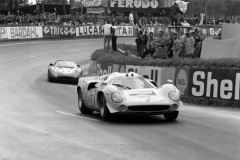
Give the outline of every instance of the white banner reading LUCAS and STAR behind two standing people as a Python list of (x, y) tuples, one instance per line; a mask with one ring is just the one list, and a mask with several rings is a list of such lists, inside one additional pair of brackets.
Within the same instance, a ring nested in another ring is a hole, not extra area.
[[(76, 36), (103, 35), (103, 26), (80, 26), (76, 27)], [(132, 26), (118, 26), (116, 30), (118, 36), (134, 36)]]

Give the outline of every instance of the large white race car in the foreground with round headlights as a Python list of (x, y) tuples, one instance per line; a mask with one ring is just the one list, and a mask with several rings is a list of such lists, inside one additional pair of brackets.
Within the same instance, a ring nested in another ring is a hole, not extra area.
[(81, 77), (77, 94), (82, 114), (97, 111), (105, 121), (114, 113), (162, 114), (167, 121), (174, 121), (183, 107), (180, 91), (173, 84), (156, 87), (155, 82), (134, 72)]

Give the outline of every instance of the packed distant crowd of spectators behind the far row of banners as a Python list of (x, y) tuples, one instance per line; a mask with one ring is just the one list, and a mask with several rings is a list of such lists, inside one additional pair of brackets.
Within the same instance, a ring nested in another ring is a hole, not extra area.
[[(170, 25), (171, 19), (167, 16), (154, 17), (150, 14), (145, 16), (137, 16), (133, 13), (134, 24), (138, 25)], [(104, 24), (104, 21), (114, 21), (116, 25), (129, 25), (130, 20), (128, 15), (123, 13), (117, 13), (113, 15), (104, 16), (103, 14), (81, 14), (74, 15), (56, 15), (55, 13), (45, 13), (39, 15), (1, 15), (0, 14), (0, 25), (79, 25), (79, 24)], [(182, 21), (189, 23), (189, 25), (197, 25), (198, 19), (195, 16), (184, 17)], [(240, 16), (232, 17), (217, 17), (208, 18), (204, 20), (206, 24), (219, 25), (221, 23), (240, 23)]]

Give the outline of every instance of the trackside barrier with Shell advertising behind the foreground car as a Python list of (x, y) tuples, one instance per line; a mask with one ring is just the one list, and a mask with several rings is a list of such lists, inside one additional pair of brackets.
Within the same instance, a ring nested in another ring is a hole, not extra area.
[(168, 79), (174, 80), (182, 97), (227, 100), (240, 104), (239, 69), (209, 70), (190, 67), (132, 66), (94, 61), (89, 66), (89, 73), (98, 75), (130, 71), (147, 75), (158, 85), (166, 83)]

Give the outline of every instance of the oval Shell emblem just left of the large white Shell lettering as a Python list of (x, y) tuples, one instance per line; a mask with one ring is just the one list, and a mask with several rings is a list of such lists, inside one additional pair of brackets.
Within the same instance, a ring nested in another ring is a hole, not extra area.
[(181, 69), (178, 72), (177, 79), (176, 79), (176, 87), (181, 92), (181, 95), (184, 95), (185, 90), (187, 88), (188, 80), (187, 80), (187, 73), (184, 69)]

